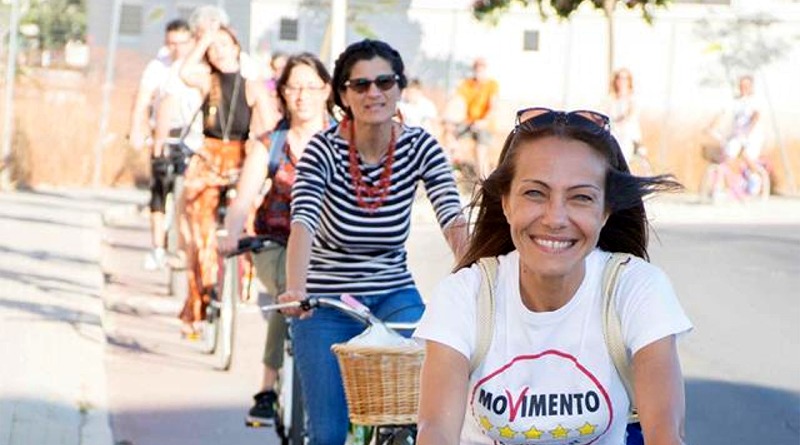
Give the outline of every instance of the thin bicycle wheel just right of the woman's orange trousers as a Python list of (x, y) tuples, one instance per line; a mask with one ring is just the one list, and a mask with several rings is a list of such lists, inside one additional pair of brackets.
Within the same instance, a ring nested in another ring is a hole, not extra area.
[(217, 368), (227, 371), (233, 361), (234, 327), (236, 325), (236, 301), (239, 299), (239, 259), (223, 260), (223, 277), (220, 289), (219, 338), (217, 344)]

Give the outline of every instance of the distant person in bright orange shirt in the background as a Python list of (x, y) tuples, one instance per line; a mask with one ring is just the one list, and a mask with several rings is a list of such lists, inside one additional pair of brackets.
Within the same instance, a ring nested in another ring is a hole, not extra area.
[(491, 172), (489, 146), (492, 142), (491, 117), (495, 108), (498, 84), (489, 78), (486, 60), (482, 57), (472, 63), (472, 76), (464, 79), (456, 94), (463, 100), (466, 115), (458, 128), (457, 137), (469, 136), (475, 141), (475, 163), (478, 175), (486, 177)]

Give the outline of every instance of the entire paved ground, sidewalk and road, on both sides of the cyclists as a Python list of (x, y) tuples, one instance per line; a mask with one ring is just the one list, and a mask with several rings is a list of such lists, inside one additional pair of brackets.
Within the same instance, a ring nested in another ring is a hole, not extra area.
[[(260, 315), (242, 314), (228, 373), (181, 340), (181, 302), (163, 273), (140, 268), (145, 201), (130, 190), (0, 193), (0, 445), (110, 445), (112, 429), (118, 444), (276, 443), (242, 425)], [(696, 325), (681, 343), (689, 443), (797, 445), (800, 200), (651, 210), (653, 260)], [(431, 221), (415, 211), (409, 240), (424, 295), (451, 264)]]

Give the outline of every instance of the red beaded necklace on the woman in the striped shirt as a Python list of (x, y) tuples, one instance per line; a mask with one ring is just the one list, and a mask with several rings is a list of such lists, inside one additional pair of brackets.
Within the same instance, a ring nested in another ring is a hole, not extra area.
[[(392, 185), (392, 165), (394, 164), (394, 149), (396, 135), (394, 123), (392, 123), (392, 135), (389, 138), (389, 147), (386, 151), (386, 164), (383, 166), (381, 177), (376, 185), (364, 183), (364, 177), (358, 166), (358, 150), (356, 149), (356, 129), (355, 123), (345, 118), (342, 127), (348, 132), (349, 155), (350, 155), (350, 178), (353, 188), (356, 190), (356, 201), (358, 206), (369, 213), (373, 213), (378, 207), (382, 206), (389, 196), (389, 187)], [(369, 198), (367, 201), (366, 198)]]

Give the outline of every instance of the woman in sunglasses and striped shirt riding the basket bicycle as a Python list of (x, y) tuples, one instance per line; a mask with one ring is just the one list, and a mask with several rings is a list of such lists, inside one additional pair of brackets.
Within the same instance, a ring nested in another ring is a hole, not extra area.
[[(352, 294), (381, 319), (416, 321), (423, 303), (406, 264), (417, 185), (459, 256), (466, 225), (450, 165), (436, 140), (396, 119), (406, 86), (403, 60), (388, 44), (347, 47), (333, 72), (341, 123), (311, 139), (297, 165), (282, 302)], [(363, 325), (333, 309), (287, 311), (308, 413), (310, 444), (345, 443), (348, 414), (331, 345)]]

